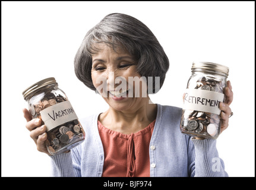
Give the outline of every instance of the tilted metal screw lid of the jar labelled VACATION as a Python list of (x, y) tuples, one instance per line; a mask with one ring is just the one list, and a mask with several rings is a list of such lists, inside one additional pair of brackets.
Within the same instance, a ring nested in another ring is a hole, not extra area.
[(30, 87), (26, 88), (26, 90), (23, 91), (23, 97), (26, 100), (27, 97), (31, 96), (35, 91), (39, 90), (40, 88), (46, 87), (46, 85), (50, 84), (58, 84), (56, 83), (56, 80), (54, 77), (45, 78), (44, 80), (41, 80), (37, 83), (34, 83)]

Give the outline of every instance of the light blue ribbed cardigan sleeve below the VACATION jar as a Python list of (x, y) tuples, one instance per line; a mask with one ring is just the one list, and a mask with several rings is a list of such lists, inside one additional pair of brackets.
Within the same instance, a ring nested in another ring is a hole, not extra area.
[(69, 151), (69, 153), (62, 153), (49, 157), (51, 158), (51, 175), (53, 177), (81, 176), (81, 164), (76, 148), (73, 148), (71, 151)]

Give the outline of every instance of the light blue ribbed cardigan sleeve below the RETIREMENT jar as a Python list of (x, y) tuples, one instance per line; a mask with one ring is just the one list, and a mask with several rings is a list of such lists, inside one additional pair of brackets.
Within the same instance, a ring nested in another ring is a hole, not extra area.
[(216, 140), (196, 140), (190, 138), (189, 148), (189, 174), (195, 177), (227, 177), (225, 164), (220, 159)]

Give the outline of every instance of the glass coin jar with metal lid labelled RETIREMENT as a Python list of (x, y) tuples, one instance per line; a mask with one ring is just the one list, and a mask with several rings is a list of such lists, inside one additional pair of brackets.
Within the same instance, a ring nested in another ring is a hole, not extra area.
[(216, 139), (220, 134), (220, 102), (225, 102), (229, 68), (211, 62), (193, 62), (184, 94), (181, 132)]

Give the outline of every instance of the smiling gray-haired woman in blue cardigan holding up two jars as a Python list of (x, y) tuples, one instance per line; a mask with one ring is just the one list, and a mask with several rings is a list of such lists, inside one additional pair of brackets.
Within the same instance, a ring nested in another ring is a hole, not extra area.
[[(109, 109), (80, 119), (86, 138), (71, 151), (50, 156), (53, 176), (227, 176), (216, 140), (182, 134), (182, 109), (150, 101), (148, 92), (162, 87), (168, 68), (162, 46), (141, 21), (109, 14), (93, 27), (75, 55), (75, 74), (102, 94)], [(133, 85), (131, 77), (153, 77), (153, 83), (146, 83), (145, 96), (144, 80)], [(118, 88), (120, 82), (123, 88)], [(226, 103), (220, 104), (221, 132), (231, 113), (229, 81), (225, 93)], [(45, 125), (31, 119), (27, 109), (23, 112), (37, 149), (49, 154)], [(217, 169), (214, 163), (219, 164)]]

